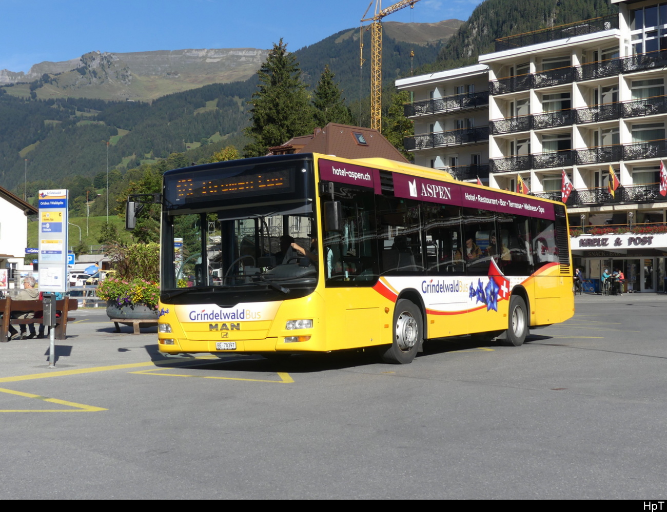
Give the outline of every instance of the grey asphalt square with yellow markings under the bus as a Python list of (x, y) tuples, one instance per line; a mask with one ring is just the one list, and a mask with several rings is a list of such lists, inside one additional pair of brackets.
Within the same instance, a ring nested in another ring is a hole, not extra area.
[[(4, 499), (664, 499), (667, 296), (577, 296), (522, 347), (163, 356), (75, 312), (0, 344)], [(342, 333), (344, 335), (344, 333)]]

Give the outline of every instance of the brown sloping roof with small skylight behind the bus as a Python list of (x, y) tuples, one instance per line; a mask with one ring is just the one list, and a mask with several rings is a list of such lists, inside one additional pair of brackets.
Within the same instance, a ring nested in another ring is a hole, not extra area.
[[(362, 135), (366, 144), (358, 141), (356, 133)], [(349, 159), (386, 158), (409, 163), (378, 130), (338, 123), (329, 123), (322, 129), (316, 128), (313, 135), (293, 137), (281, 146), (272, 147), (269, 154), (289, 153), (322, 153)]]

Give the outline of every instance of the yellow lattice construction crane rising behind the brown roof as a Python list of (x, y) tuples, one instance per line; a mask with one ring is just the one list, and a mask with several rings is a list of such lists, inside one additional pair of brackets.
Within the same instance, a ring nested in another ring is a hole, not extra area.
[[(382, 18), (396, 11), (400, 11), (404, 7), (410, 5), (410, 9), (419, 0), (401, 0), (394, 5), (382, 9), (382, 0), (376, 0), (375, 15), (366, 18), (368, 9), (370, 9), (373, 0), (368, 4), (366, 13), (362, 17), (362, 24), (364, 21), (371, 21), (371, 128), (382, 131)], [(368, 29), (367, 29), (368, 30)], [(364, 44), (360, 41), (360, 49), (363, 51)], [(364, 64), (364, 58), (360, 58), (360, 65)]]

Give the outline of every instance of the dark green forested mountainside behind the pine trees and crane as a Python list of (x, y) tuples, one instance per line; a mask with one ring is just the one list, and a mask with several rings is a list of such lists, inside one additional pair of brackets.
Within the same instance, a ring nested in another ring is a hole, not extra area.
[[(411, 49), (415, 49), (415, 64), (420, 65), (434, 61), (441, 48), (442, 43), (411, 45), (385, 37), (385, 82), (391, 85), (396, 77), (410, 73)], [(360, 94), (365, 98), (369, 93), (370, 65), (364, 67), (360, 92), (358, 29), (331, 35), (295, 55), (307, 87), (314, 87), (329, 65), (348, 103), (356, 102), (355, 112), (368, 109), (366, 103), (359, 105)], [(107, 141), (109, 165), (122, 169), (189, 149), (198, 149), (197, 154), (206, 157), (229, 143), (243, 147), (247, 101), (257, 85), (257, 77), (251, 77), (174, 93), (152, 103), (38, 99), (35, 91), (51, 80), (45, 75), (31, 83), (32, 92), (23, 97), (10, 87), (0, 88), (0, 176), (6, 188), (22, 187), (25, 159), (30, 181), (93, 177), (106, 170)], [(201, 148), (209, 144), (213, 144), (209, 151)]]

